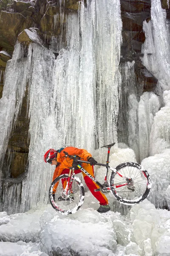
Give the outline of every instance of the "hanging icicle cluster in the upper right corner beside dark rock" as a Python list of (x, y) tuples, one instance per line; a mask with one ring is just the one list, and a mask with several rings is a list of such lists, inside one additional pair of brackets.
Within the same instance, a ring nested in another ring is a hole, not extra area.
[(170, 90), (170, 32), (160, 0), (151, 0), (151, 21), (144, 21), (143, 29), (143, 63), (159, 79), (162, 90)]

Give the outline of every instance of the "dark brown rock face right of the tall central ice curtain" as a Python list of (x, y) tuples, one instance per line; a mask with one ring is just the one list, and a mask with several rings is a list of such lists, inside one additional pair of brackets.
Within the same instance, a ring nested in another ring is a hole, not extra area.
[(122, 10), (122, 38), (123, 44), (121, 55), (123, 61), (135, 61), (136, 77), (144, 83), (144, 91), (153, 90), (157, 79), (142, 65), (140, 57), (141, 48), (145, 36), (143, 32), (143, 21), (150, 20), (149, 0), (121, 0)]

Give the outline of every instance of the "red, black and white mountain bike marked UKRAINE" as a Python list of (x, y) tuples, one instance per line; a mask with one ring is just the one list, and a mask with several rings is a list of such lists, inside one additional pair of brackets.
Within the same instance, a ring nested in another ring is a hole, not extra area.
[[(105, 145), (108, 148), (108, 157), (106, 164), (96, 163), (98, 166), (105, 166), (105, 179), (101, 184), (95, 177), (91, 176), (83, 167), (82, 163), (88, 161), (81, 160), (78, 156), (69, 155), (64, 151), (65, 157), (70, 162), (69, 174), (63, 174), (57, 177), (50, 186), (49, 199), (52, 207), (63, 215), (75, 213), (83, 204), (85, 198), (85, 190), (79, 177), (74, 173), (75, 169), (79, 169), (91, 178), (104, 194), (111, 192), (113, 196), (121, 203), (126, 205), (134, 205), (142, 202), (150, 193), (151, 180), (148, 172), (138, 163), (127, 162), (121, 163), (116, 168), (109, 166), (109, 155), (111, 147), (115, 143)], [(102, 148), (103, 148), (102, 147)], [(108, 181), (108, 170), (111, 170), (111, 175)], [(57, 185), (55, 199), (53, 188)]]

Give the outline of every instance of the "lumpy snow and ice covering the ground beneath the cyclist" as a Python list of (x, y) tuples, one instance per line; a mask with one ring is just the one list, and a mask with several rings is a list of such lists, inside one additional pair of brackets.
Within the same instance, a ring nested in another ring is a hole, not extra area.
[(97, 208), (87, 192), (74, 215), (60, 215), (51, 205), (14, 215), (1, 212), (0, 256), (170, 256), (169, 211), (147, 199), (126, 216)]

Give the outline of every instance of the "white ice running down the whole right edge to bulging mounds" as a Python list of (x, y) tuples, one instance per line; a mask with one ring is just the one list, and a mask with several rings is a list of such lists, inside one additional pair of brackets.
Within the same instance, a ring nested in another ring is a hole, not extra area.
[(158, 79), (156, 93), (161, 102), (161, 109), (156, 112), (154, 118), (152, 117), (148, 138), (150, 157), (145, 158), (142, 165), (150, 173), (153, 183), (151, 202), (157, 207), (170, 209), (170, 29), (166, 11), (161, 9), (159, 0), (151, 0), (151, 21), (144, 22), (143, 27), (146, 40), (142, 61)]

